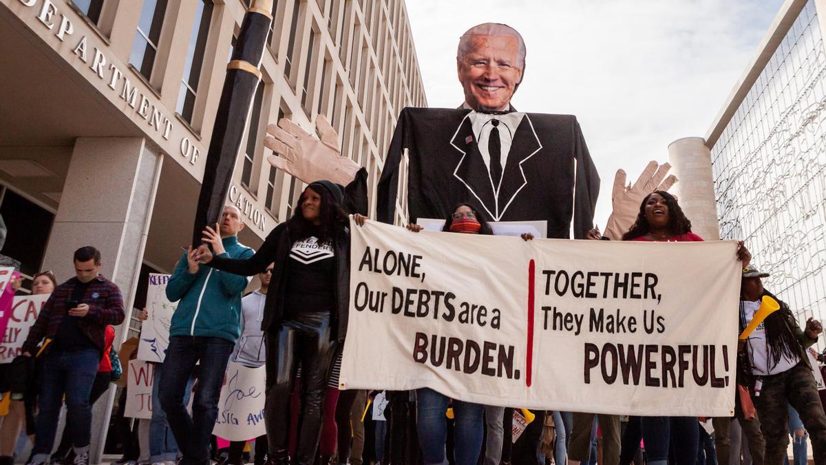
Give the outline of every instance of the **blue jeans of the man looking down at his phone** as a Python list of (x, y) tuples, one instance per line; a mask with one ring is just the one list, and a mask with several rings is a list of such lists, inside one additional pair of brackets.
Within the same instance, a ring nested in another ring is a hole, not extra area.
[(74, 352), (52, 351), (45, 356), (40, 372), (40, 397), (37, 415), (34, 462), (46, 462), (55, 445), (57, 421), (63, 396), (69, 410), (69, 424), (75, 451), (86, 452), (92, 439), (92, 406), (89, 394), (101, 362), (101, 352), (94, 348)]

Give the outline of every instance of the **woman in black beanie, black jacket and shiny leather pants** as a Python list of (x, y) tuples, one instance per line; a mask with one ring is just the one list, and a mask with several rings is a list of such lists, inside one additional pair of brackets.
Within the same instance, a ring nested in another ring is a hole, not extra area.
[[(213, 256), (206, 246), (199, 260), (218, 270), (252, 276), (274, 263), (264, 303), (262, 329), (267, 343), (264, 415), (269, 459), (290, 463), (289, 400), (301, 362), (301, 421), (292, 463), (312, 463), (321, 431), (321, 405), (338, 344), (347, 332), (349, 311), (349, 229), (338, 185), (308, 185), (292, 218), (279, 224), (249, 259)], [(364, 217), (355, 215), (363, 224)], [(221, 237), (207, 228), (204, 241)]]

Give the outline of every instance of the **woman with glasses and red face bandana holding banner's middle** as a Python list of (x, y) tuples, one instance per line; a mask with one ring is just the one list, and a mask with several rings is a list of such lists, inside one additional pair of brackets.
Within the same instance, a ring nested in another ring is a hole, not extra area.
[[(408, 224), (407, 229), (420, 232), (418, 224)], [(493, 234), (491, 225), (468, 202), (458, 204), (453, 213), (445, 218), (444, 232), (465, 234)], [(530, 233), (522, 234), (525, 241), (533, 239)], [(448, 397), (428, 387), (416, 390), (416, 429), (419, 433), (422, 458), (425, 465), (444, 463), (445, 444), (447, 442)], [(483, 415), (487, 417), (488, 435), (484, 463), (499, 463), (502, 452), (502, 415), (504, 407), (472, 404), (462, 400), (453, 400), (453, 457), (457, 465), (475, 465), (482, 451)], [(539, 423), (542, 421), (540, 419)], [(535, 444), (534, 444), (535, 445)], [(536, 448), (534, 448), (534, 456)], [(492, 457), (491, 457), (492, 456)]]

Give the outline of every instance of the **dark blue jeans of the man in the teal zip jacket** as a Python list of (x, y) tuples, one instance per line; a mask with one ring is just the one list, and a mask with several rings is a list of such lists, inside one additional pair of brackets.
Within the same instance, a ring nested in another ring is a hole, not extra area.
[[(227, 339), (202, 336), (172, 336), (164, 361), (164, 376), (159, 382), (160, 405), (169, 428), (183, 453), (183, 465), (202, 464), (209, 460), (212, 429), (218, 418), (218, 398), (226, 364), (235, 344)], [(198, 366), (198, 389), (187, 411), (184, 395), (189, 379)]]

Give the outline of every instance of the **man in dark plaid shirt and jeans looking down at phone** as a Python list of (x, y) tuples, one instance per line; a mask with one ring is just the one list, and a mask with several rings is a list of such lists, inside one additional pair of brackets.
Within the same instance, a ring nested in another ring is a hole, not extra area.
[[(75, 277), (57, 286), (31, 326), (23, 355), (42, 358), (40, 396), (31, 463), (47, 463), (55, 443), (60, 405), (66, 398), (74, 463), (88, 465), (92, 435), (89, 393), (106, 341), (107, 325), (126, 317), (117, 285), (100, 276), (101, 253), (91, 246), (74, 252)], [(38, 348), (38, 344), (44, 341)]]

